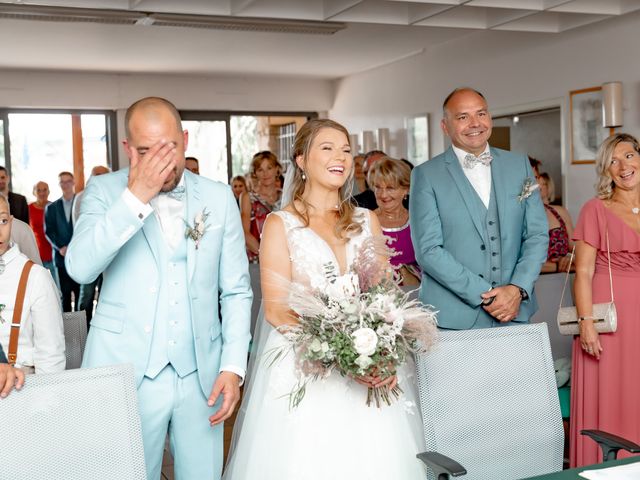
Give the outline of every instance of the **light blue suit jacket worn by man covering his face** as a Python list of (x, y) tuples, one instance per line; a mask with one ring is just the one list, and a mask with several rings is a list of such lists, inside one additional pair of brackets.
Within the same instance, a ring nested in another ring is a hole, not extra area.
[[(156, 310), (162, 305), (158, 261), (164, 239), (154, 214), (142, 221), (122, 199), (128, 173), (124, 169), (91, 180), (65, 264), (81, 284), (104, 272), (83, 366), (132, 363), (139, 385), (147, 369)], [(187, 240), (193, 342), (200, 386), (208, 397), (221, 365), (246, 368), (253, 294), (231, 189), (187, 170), (184, 179), (185, 221), (193, 225), (197, 213), (210, 213), (198, 249)]]

